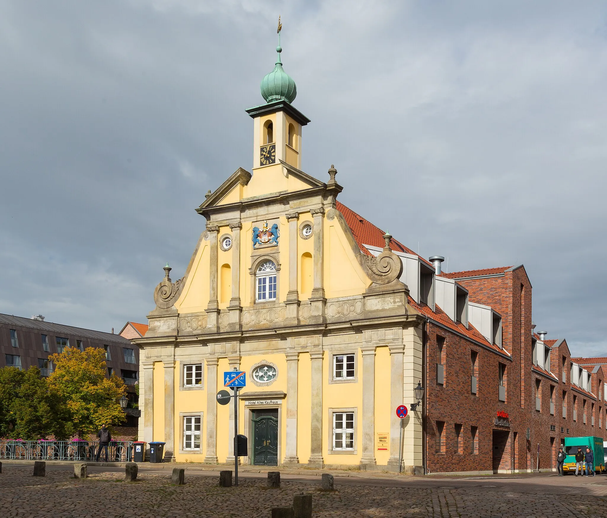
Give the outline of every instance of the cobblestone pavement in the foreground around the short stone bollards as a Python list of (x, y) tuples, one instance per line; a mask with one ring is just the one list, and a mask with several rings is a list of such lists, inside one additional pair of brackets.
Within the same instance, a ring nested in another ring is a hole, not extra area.
[(44, 478), (32, 477), (32, 466), (5, 464), (0, 516), (270, 518), (272, 507), (311, 493), (314, 518), (607, 517), (607, 499), (595, 496), (607, 495), (607, 477), (336, 479), (336, 491), (321, 493), (312, 477), (283, 480), (280, 489), (268, 489), (265, 479), (248, 474), (237, 488), (220, 488), (219, 477), (210, 474), (186, 474), (185, 486), (172, 486), (164, 470), (142, 470), (137, 482), (124, 482), (122, 470), (103, 469), (77, 480), (66, 467), (49, 463)]

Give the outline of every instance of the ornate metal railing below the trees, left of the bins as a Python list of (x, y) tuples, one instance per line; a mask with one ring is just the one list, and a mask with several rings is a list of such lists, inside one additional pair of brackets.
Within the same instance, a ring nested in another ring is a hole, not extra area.
[[(0, 459), (7, 460), (88, 460), (95, 461), (98, 441), (55, 441), (55, 440), (14, 440), (0, 439)], [(133, 459), (131, 441), (112, 441), (107, 448), (109, 462), (131, 462)], [(105, 460), (105, 450), (100, 460)]]

